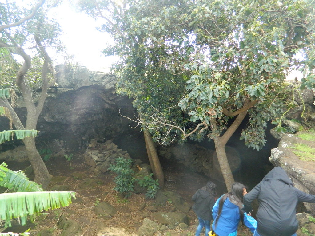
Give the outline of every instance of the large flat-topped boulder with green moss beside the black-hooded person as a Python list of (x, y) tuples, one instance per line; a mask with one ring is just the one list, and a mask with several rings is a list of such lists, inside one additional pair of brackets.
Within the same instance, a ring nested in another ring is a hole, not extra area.
[[(315, 133), (305, 131), (283, 136), (279, 146), (271, 150), (269, 160), (274, 166), (284, 168), (296, 188), (308, 194), (315, 194), (315, 141), (304, 140), (298, 136), (314, 138)], [(302, 150), (296, 150), (298, 147), (302, 147)], [(307, 156), (313, 157), (313, 160), (307, 161)], [(308, 211), (315, 214), (315, 204), (304, 205)]]

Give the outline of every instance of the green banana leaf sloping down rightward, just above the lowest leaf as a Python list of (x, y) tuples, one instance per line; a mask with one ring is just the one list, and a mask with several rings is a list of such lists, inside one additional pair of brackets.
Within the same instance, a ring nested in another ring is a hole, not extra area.
[(44, 191), (37, 183), (30, 181), (23, 172), (6, 168), (5, 162), (0, 164), (0, 186), (13, 189), (15, 192)]

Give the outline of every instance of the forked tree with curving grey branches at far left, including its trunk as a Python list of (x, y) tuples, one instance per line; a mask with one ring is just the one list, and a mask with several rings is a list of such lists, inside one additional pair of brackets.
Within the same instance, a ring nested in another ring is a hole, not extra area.
[[(56, 81), (52, 60), (46, 51), (46, 47), (62, 49), (58, 40), (59, 25), (45, 16), (47, 9), (53, 6), (55, 4), (45, 4), (45, 0), (32, 3), (29, 8), (18, 7), (14, 1), (0, 3), (0, 53), (6, 56), (1, 63), (0, 86), (16, 86), (27, 110), (26, 124), (23, 125), (13, 104), (9, 103), (9, 97), (0, 97), (0, 106), (6, 108), (16, 130), (36, 130), (47, 91)], [(16, 61), (17, 56), (22, 64)], [(35, 181), (47, 188), (50, 175), (36, 149), (34, 136), (23, 137), (22, 141), (35, 172)]]

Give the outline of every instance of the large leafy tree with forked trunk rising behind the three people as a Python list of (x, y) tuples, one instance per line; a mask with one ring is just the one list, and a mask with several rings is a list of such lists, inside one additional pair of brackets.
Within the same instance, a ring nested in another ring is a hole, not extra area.
[(315, 87), (313, 0), (95, 2), (85, 10), (115, 39), (104, 52), (121, 58), (118, 92), (135, 99), (135, 121), (162, 143), (178, 133), (213, 139), (228, 190), (225, 146), (245, 116), (241, 139), (259, 150), (267, 121), (285, 130), (289, 71), (303, 71), (302, 89)]

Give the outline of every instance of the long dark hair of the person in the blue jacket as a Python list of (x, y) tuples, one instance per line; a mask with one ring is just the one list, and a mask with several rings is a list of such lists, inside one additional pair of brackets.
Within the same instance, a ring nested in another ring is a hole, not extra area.
[(223, 208), (223, 203), (225, 202), (225, 200), (229, 197), (230, 200), (233, 199), (233, 203), (238, 205), (239, 207), (239, 214), (240, 214), (240, 218), (241, 221), (243, 223), (244, 221), (244, 212), (241, 210), (243, 208), (243, 194), (244, 194), (244, 188), (247, 188), (244, 184), (242, 183), (233, 183), (232, 184), (232, 190), (231, 192), (228, 192), (227, 194), (224, 194), (220, 201), (219, 201), (219, 211), (218, 211), (218, 216), (215, 219), (215, 227), (218, 224), (218, 220), (221, 216), (222, 213), (222, 208)]

